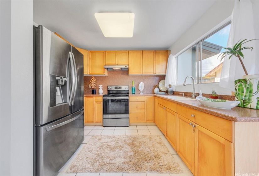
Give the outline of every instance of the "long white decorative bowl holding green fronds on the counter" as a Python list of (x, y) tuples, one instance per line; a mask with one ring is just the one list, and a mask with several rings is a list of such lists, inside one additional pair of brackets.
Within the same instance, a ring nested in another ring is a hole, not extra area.
[[(197, 96), (196, 100), (204, 106), (215, 107), (219, 109), (231, 109), (240, 103), (240, 101), (229, 101), (229, 100), (223, 100), (224, 101), (223, 102), (222, 100), (219, 100), (219, 99), (211, 99), (211, 98), (206, 98), (204, 96)], [(216, 101), (222, 101), (222, 102), (216, 102)]]

